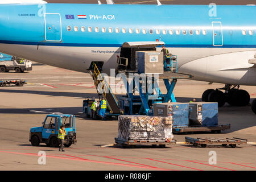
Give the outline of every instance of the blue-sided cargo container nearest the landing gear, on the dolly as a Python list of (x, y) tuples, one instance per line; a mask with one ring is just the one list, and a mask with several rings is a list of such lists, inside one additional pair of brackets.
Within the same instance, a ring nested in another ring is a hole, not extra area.
[(190, 126), (216, 126), (218, 125), (217, 102), (189, 103)]

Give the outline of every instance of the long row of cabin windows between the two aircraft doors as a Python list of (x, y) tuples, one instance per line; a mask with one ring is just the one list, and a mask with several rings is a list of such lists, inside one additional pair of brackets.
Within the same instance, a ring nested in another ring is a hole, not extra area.
[[(67, 30), (68, 31), (72, 31), (72, 27), (71, 26), (68, 26), (67, 27)], [(74, 31), (79, 31), (79, 27), (77, 27), (77, 26), (75, 26), (74, 27)], [(85, 32), (86, 31), (86, 28), (85, 27), (81, 27), (81, 31), (82, 32)], [(92, 27), (88, 27), (88, 32), (92, 32), (93, 31), (93, 28)], [(94, 28), (94, 31), (95, 32), (100, 32), (100, 28), (99, 27), (95, 27)], [(105, 33), (107, 31), (107, 29), (105, 28), (105, 27), (102, 27), (101, 28), (101, 32), (103, 32), (103, 33)], [(153, 34), (154, 33), (154, 30), (152, 30), (152, 29), (150, 29), (150, 30), (147, 30), (147, 29), (145, 29), (145, 28), (143, 28), (142, 30), (141, 29), (139, 29), (139, 28), (135, 28), (135, 33), (136, 34), (140, 34), (141, 32), (142, 32), (142, 34), (147, 34), (147, 31), (150, 33), (150, 34)], [(109, 33), (112, 33), (112, 32), (115, 32), (115, 33), (119, 33), (119, 32), (122, 32), (123, 34), (126, 34), (126, 32), (129, 32), (130, 34), (133, 34), (133, 32), (134, 32), (134, 29), (133, 28), (128, 28), (128, 29), (126, 29), (126, 28), (122, 28), (121, 30), (119, 29), (119, 28), (112, 28), (112, 27), (110, 27), (110, 28), (108, 28), (108, 32)], [(155, 30), (155, 33), (156, 34), (160, 34), (160, 30), (159, 29), (156, 29)], [(181, 34), (181, 32), (182, 32), (182, 34), (183, 35), (187, 35), (187, 34), (189, 34), (189, 35), (193, 35), (194, 34), (194, 32), (195, 32), (195, 34), (196, 35), (200, 35), (200, 30), (189, 30), (189, 31), (187, 31), (187, 30), (182, 30), (182, 31), (180, 31), (180, 30), (162, 30), (162, 34), (164, 34), (164, 35), (166, 35), (166, 34), (170, 34), (170, 35), (173, 35), (174, 33), (176, 34), (176, 35), (180, 35)], [(202, 34), (203, 35), (207, 35), (207, 31), (206, 30), (202, 30)]]

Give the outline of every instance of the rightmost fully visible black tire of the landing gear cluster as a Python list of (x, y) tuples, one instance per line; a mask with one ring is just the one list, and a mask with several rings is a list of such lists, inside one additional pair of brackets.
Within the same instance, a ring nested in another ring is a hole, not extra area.
[(232, 96), (235, 106), (247, 106), (250, 103), (250, 94), (246, 90), (237, 90)]

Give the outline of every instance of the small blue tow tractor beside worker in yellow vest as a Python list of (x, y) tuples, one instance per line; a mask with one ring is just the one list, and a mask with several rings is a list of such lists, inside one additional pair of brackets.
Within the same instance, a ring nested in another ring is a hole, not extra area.
[(30, 142), (32, 146), (39, 146), (40, 143), (46, 143), (47, 146), (59, 147), (59, 129), (63, 125), (67, 131), (64, 138), (64, 146), (70, 147), (77, 142), (76, 140), (76, 121), (75, 115), (69, 114), (49, 114), (44, 119), (41, 127), (32, 127), (30, 129)]

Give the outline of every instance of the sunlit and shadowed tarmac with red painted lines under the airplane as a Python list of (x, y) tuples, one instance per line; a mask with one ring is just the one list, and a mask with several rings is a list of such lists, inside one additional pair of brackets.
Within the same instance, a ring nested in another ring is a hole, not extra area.
[[(168, 145), (166, 148), (140, 146), (100, 147), (114, 144), (118, 135), (118, 121), (92, 121), (82, 113), (82, 101), (96, 97), (93, 80), (88, 73), (69, 71), (48, 65), (33, 64), (25, 73), (0, 73), (3, 78), (27, 80), (23, 87), (0, 88), (0, 171), (235, 171), (256, 169), (256, 144), (229, 146), (193, 147), (188, 144)], [(113, 83), (117, 87), (121, 86)], [(160, 82), (160, 88), (164, 86)], [(201, 94), (209, 88), (220, 88), (223, 84), (178, 80), (174, 93), (177, 102), (188, 102), (192, 98), (200, 101)], [(255, 86), (241, 86), (256, 98)], [(49, 113), (76, 115), (77, 144), (59, 152), (58, 148), (31, 146), (31, 127), (42, 126)], [(177, 142), (185, 137), (238, 137), (256, 142), (256, 115), (250, 106), (234, 107), (226, 104), (219, 109), (220, 124), (231, 124), (230, 130), (220, 134), (199, 133), (174, 135)], [(38, 152), (46, 152), (46, 165), (39, 165)], [(209, 164), (210, 151), (217, 154), (217, 164)], [(56, 168), (57, 166), (57, 168)]]

